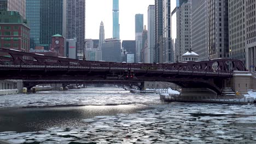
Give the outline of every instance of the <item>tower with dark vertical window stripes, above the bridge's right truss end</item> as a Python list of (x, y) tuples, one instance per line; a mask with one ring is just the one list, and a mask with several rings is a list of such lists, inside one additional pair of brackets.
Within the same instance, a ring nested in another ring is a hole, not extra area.
[(229, 56), (228, 1), (208, 0), (208, 49), (210, 59)]

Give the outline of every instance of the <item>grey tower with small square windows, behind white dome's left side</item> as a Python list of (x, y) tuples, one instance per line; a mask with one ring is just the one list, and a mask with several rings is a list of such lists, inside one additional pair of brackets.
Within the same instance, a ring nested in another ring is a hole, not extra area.
[(182, 61), (182, 55), (190, 50), (190, 10), (191, 1), (177, 8), (177, 47), (176, 61)]

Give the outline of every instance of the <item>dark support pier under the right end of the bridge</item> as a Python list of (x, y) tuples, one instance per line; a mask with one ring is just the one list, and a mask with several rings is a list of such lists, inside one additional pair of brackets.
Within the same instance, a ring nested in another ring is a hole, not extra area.
[(217, 93), (208, 88), (182, 88), (182, 97), (216, 97)]

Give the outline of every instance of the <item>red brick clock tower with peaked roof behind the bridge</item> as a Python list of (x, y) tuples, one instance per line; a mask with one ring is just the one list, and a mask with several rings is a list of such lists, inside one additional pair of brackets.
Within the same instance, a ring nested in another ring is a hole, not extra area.
[(51, 37), (51, 49), (50, 51), (57, 52), (59, 57), (64, 56), (64, 40), (65, 38), (56, 34)]

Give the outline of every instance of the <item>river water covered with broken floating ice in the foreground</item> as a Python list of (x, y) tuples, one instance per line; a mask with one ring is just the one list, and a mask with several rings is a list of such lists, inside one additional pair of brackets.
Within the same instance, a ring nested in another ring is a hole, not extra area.
[(256, 106), (165, 103), (86, 88), (0, 96), (0, 140), (15, 143), (256, 143)]

